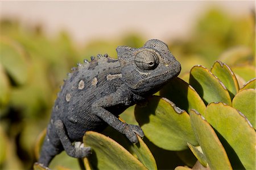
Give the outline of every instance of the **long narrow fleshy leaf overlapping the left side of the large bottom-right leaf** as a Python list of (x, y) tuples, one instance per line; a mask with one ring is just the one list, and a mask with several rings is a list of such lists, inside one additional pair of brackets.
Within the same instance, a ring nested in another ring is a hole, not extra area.
[[(224, 147), (205, 118), (193, 109), (190, 112), (190, 117), (193, 131), (210, 169), (232, 169)], [(200, 161), (200, 163), (204, 163), (204, 161)]]

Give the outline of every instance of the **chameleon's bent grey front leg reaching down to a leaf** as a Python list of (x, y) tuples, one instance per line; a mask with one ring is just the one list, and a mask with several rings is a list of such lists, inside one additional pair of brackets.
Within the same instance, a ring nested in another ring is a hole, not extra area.
[[(94, 113), (98, 117), (100, 117), (101, 119), (103, 119), (103, 121), (108, 123), (108, 125), (112, 126), (113, 128), (115, 128), (115, 130), (121, 132), (122, 134), (125, 134), (126, 137), (130, 140), (130, 142), (138, 143), (138, 138), (136, 134), (138, 134), (141, 137), (144, 136), (141, 127), (137, 125), (129, 125), (127, 123), (123, 123), (115, 115), (113, 115), (105, 109), (107, 107), (114, 105), (125, 105), (125, 103), (129, 102), (129, 99), (127, 97), (126, 99), (123, 99), (121, 94), (122, 92), (117, 91), (115, 93), (110, 94), (109, 96), (100, 99), (100, 101), (94, 102), (92, 105), (92, 110), (94, 110)], [(127, 96), (127, 94), (129, 93), (124, 94), (126, 94)]]

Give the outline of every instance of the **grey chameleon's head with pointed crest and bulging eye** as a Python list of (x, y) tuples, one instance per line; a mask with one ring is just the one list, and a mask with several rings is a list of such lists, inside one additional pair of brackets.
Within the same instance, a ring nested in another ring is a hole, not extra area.
[(180, 63), (160, 40), (148, 40), (138, 49), (120, 46), (117, 54), (123, 81), (139, 95), (158, 91), (181, 70)]

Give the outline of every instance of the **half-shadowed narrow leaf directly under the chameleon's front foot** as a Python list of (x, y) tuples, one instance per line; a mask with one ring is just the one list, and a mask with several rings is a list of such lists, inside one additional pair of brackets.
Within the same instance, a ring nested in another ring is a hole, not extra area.
[(103, 134), (121, 144), (133, 156), (137, 157), (146, 168), (157, 169), (154, 156), (151, 154), (147, 145), (139, 136), (137, 136), (139, 143), (133, 144), (126, 138), (125, 135), (120, 134), (120, 132), (110, 126), (104, 130)]

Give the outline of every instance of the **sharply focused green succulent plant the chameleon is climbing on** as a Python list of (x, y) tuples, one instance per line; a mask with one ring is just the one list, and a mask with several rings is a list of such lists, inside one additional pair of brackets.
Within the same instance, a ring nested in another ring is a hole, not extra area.
[[(93, 154), (83, 160), (84, 167), (254, 169), (256, 78), (240, 87), (235, 75), (221, 61), (210, 71), (194, 66), (189, 84), (175, 78), (160, 96), (135, 106), (144, 142), (138, 137), (139, 143), (132, 144), (110, 127), (104, 134), (86, 132), (84, 144)], [(178, 161), (168, 167), (159, 159)]]

